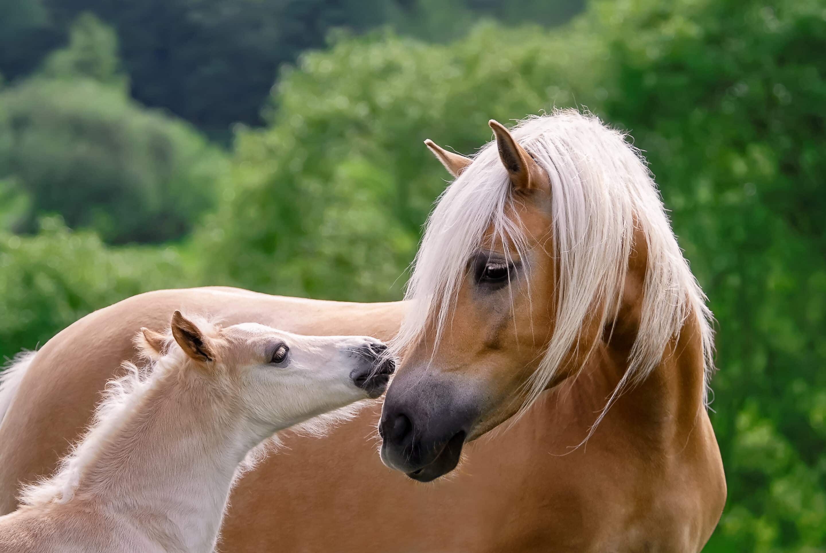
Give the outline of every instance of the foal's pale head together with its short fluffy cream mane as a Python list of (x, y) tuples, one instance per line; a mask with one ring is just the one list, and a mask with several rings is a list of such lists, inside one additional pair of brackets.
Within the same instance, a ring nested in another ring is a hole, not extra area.
[[(169, 417), (184, 417), (187, 425), (202, 422), (200, 429), (187, 426), (188, 435), (230, 436), (238, 452), (246, 454), (279, 430), (377, 398), (395, 369), (387, 346), (368, 336), (299, 336), (254, 323), (223, 328), (178, 311), (165, 334), (140, 330), (135, 344), (151, 363), (141, 369), (124, 364), (126, 374), (107, 384), (86, 435), (60, 461), (54, 476), (26, 486), (23, 503), (70, 501), (93, 464), (102, 481), (100, 474), (108, 474), (124, 458), (122, 451), (110, 451), (118, 462), (96, 463), (102, 450), (135, 446), (146, 414), (158, 416), (155, 428), (169, 439), (181, 437), (167, 433)], [(170, 398), (175, 401), (164, 402)], [(124, 424), (131, 424), (131, 430)], [(157, 436), (149, 436), (158, 446)]]

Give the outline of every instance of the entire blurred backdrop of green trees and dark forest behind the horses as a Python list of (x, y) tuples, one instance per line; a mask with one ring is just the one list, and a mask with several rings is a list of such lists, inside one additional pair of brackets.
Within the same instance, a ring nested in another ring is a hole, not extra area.
[(587, 107), (719, 320), (706, 551), (826, 551), (826, 0), (0, 0), (0, 356), (154, 288), (401, 298), (447, 174)]

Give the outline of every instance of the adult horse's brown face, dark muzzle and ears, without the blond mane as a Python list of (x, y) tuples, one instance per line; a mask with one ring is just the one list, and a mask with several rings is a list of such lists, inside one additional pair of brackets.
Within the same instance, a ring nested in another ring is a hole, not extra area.
[[(453, 300), (431, 299), (442, 304), (433, 306), (419, 336), (406, 345), (379, 426), (385, 464), (422, 481), (453, 470), (465, 441), (520, 408), (553, 334), (553, 279), (546, 276), (553, 274), (548, 174), (504, 126), (490, 125), (500, 166), (484, 170), (510, 181), (511, 190), (496, 200), (505, 219), (500, 225), (486, 222), (481, 240), (463, 260), (462, 278), (450, 291)], [(471, 159), (425, 144), (454, 176), (472, 170)], [(477, 163), (484, 163), (483, 155)], [(425, 260), (430, 246), (423, 245), (419, 267), (444, 263), (433, 255)]]

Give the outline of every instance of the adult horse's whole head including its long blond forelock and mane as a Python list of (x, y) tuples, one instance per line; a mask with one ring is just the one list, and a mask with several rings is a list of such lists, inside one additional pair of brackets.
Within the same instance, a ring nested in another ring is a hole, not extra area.
[[(426, 142), (457, 179), (416, 258), (413, 307), (394, 343), (403, 362), (379, 422), (383, 462), (420, 481), (453, 470), (466, 441), (582, 369), (624, 307), (637, 228), (665, 268), (648, 274), (662, 279), (652, 308), (663, 318), (643, 321), (650, 343), (635, 344), (629, 377), (659, 360), (686, 312), (705, 309), (622, 134), (576, 112), (529, 119), (512, 135), (490, 125), (495, 140), (473, 159)], [(643, 280), (633, 285), (637, 301)]]

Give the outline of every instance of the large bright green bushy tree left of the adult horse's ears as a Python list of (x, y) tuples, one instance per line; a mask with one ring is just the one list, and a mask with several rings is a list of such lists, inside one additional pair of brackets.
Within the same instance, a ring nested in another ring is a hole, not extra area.
[(572, 102), (592, 88), (594, 68), (559, 75), (598, 48), (539, 27), (482, 26), (453, 45), (383, 34), (305, 55), (282, 75), (272, 125), (237, 141), (235, 173), (205, 233), (223, 260), (212, 270), (271, 292), (398, 298), (448, 177), (422, 141), (472, 153), (491, 138), (489, 118)]

